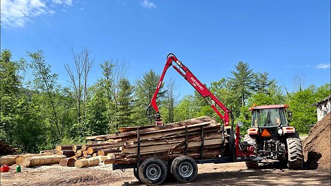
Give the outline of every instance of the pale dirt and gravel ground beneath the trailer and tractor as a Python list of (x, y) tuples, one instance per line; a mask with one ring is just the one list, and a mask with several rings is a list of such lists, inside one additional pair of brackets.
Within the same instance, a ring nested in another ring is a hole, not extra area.
[[(282, 169), (276, 165), (246, 169), (245, 163), (199, 165), (197, 179), (192, 183), (166, 182), (164, 185), (330, 185), (330, 173), (316, 170)], [(132, 174), (112, 170), (111, 165), (77, 169), (59, 165), (23, 168), (1, 173), (1, 185), (141, 185)]]

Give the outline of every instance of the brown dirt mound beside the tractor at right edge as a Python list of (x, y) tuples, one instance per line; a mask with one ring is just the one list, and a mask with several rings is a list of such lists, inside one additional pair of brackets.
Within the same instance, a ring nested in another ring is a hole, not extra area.
[(330, 172), (330, 115), (317, 122), (303, 141), (303, 154), (310, 169)]

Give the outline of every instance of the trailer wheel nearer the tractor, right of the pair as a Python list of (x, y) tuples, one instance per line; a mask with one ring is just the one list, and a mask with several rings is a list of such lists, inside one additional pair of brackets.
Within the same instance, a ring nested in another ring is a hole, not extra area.
[(198, 165), (189, 156), (178, 156), (172, 162), (170, 171), (179, 182), (188, 183), (197, 177)]

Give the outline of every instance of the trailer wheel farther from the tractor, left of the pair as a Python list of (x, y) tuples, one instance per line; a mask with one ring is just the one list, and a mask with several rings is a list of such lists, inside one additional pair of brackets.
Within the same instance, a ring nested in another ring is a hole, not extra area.
[(167, 167), (159, 158), (148, 158), (138, 169), (139, 178), (146, 185), (160, 185), (167, 177)]

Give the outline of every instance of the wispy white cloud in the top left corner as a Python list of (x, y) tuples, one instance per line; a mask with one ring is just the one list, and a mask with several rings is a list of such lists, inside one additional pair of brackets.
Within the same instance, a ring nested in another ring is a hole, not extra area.
[(23, 28), (42, 14), (55, 14), (48, 5), (71, 6), (72, 0), (1, 0), (1, 26)]

